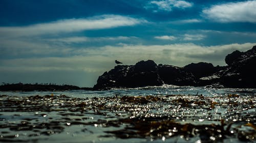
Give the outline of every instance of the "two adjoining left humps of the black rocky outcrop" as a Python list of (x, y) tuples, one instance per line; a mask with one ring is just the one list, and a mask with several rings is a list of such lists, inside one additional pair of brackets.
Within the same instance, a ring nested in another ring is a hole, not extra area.
[(134, 66), (118, 65), (99, 76), (95, 90), (110, 88), (135, 88), (166, 84), (194, 85), (195, 76), (183, 68), (159, 65), (152, 61), (140, 61)]

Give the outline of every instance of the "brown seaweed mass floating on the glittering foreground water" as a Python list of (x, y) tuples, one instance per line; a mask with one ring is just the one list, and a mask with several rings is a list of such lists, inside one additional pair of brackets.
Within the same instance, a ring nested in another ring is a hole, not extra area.
[[(256, 99), (250, 95), (0, 97), (2, 142), (38, 142), (40, 136), (63, 134), (73, 126), (81, 127), (77, 132), (90, 134), (92, 127), (105, 128), (99, 135), (105, 138), (199, 137), (202, 142), (223, 142), (226, 138), (255, 141), (256, 137)], [(9, 121), (15, 117), (17, 121)], [(26, 138), (18, 135), (22, 132)]]

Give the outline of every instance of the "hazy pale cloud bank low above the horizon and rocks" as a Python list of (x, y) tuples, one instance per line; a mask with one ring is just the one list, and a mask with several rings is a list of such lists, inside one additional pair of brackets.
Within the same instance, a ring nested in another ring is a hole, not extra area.
[[(3, 82), (63, 82), (63, 78), (70, 77), (75, 85), (92, 86), (99, 75), (116, 66), (114, 60), (118, 59), (124, 65), (134, 65), (141, 60), (154, 60), (157, 64), (185, 66), (190, 63), (209, 62), (214, 65), (225, 65), (224, 59), (228, 53), (234, 50), (246, 51), (256, 43), (228, 44), (217, 46), (200, 46), (191, 43), (170, 45), (123, 45), (103, 46), (91, 48), (73, 49), (72, 56), (62, 57), (30, 57), (19, 59), (2, 59), (0, 62), (0, 78)], [(51, 49), (34, 51), (34, 54), (42, 54)], [(72, 48), (63, 47), (57, 52), (64, 52)], [(24, 50), (24, 49), (23, 49)], [(25, 49), (26, 50), (26, 49)], [(29, 51), (27, 51), (29, 52)], [(61, 53), (62, 54), (62, 53)], [(68, 52), (70, 54), (70, 52)], [(53, 74), (54, 73), (54, 74)], [(35, 76), (31, 76), (34, 74)], [(44, 74), (45, 76), (38, 76)], [(24, 76), (20, 76), (24, 75)], [(58, 75), (58, 78), (56, 77)], [(61, 75), (61, 76), (60, 76)], [(10, 78), (6, 78), (10, 77)], [(13, 77), (13, 79), (11, 79)], [(18, 79), (16, 79), (18, 77)], [(84, 79), (84, 77), (90, 78)], [(47, 80), (46, 80), (47, 78)], [(53, 81), (51, 79), (54, 79)], [(35, 81), (36, 80), (36, 81)]]

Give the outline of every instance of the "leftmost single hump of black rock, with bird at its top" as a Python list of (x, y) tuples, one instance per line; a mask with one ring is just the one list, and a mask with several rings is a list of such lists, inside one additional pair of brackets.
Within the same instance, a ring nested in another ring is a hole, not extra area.
[(154, 61), (140, 61), (135, 66), (118, 65), (109, 72), (99, 76), (96, 90), (110, 88), (135, 88), (148, 85), (162, 85), (162, 80), (157, 73), (157, 65)]

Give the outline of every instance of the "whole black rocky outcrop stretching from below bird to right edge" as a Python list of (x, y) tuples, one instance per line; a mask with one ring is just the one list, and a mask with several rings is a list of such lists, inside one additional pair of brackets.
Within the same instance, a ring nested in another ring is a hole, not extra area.
[(135, 88), (150, 85), (174, 84), (226, 88), (256, 88), (256, 46), (246, 52), (238, 50), (225, 58), (228, 66), (210, 63), (191, 63), (185, 67), (157, 65), (140, 61), (136, 65), (118, 65), (99, 76), (94, 90)]

